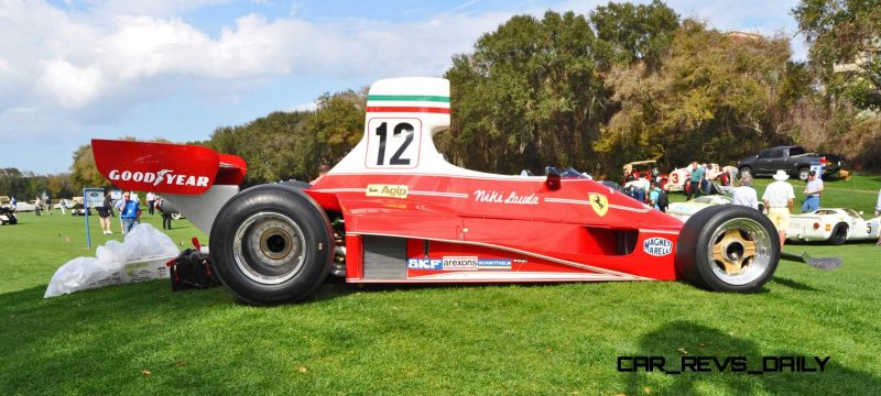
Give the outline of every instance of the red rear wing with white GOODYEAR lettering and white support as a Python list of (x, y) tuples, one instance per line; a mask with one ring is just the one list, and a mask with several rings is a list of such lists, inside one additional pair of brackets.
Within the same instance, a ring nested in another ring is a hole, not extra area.
[(94, 139), (91, 150), (115, 186), (161, 194), (207, 234), (248, 169), (236, 155), (197, 145)]

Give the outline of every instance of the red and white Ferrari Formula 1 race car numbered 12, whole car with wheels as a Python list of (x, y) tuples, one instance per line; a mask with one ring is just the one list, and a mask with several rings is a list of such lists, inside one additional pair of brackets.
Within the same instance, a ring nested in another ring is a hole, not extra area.
[(152, 190), (210, 235), (210, 261), (243, 301), (350, 283), (537, 283), (687, 279), (751, 292), (773, 275), (780, 242), (746, 207), (682, 221), (585, 178), (504, 176), (447, 163), (432, 136), (449, 127), (449, 82), (395, 78), (369, 91), (365, 135), (312, 185), (238, 190), (244, 162), (200, 146), (94, 140), (118, 187)]

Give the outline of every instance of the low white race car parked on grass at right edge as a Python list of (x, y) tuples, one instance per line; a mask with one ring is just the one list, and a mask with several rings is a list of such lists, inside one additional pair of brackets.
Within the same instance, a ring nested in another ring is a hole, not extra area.
[(842, 244), (847, 241), (877, 240), (881, 218), (866, 220), (853, 209), (820, 208), (790, 219), (786, 238), (795, 241), (826, 241)]

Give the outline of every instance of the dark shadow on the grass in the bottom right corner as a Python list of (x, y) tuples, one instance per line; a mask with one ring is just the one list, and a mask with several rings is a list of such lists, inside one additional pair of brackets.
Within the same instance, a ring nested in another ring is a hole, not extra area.
[[(881, 378), (859, 367), (847, 367), (837, 362), (842, 356), (829, 356), (819, 372), (793, 372), (786, 367), (780, 371), (761, 372), (763, 358), (805, 356), (805, 367), (818, 369), (814, 356), (825, 359), (826, 351), (808, 350), (762, 350), (755, 342), (707, 326), (689, 321), (674, 321), (657, 330), (643, 334), (639, 339), (639, 350), (634, 356), (664, 356), (664, 371), (621, 373), (621, 381), (627, 384), (628, 395), (690, 395), (690, 394), (726, 394), (753, 395), (771, 392), (794, 395), (805, 394), (871, 394), (881, 387)], [(683, 359), (695, 360), (705, 356), (706, 372), (695, 372), (684, 367)], [(720, 370), (728, 356), (746, 359), (747, 372), (733, 372), (728, 365)], [(777, 367), (777, 361), (769, 361), (769, 369)], [(632, 367), (632, 364), (626, 365)], [(675, 374), (675, 372), (682, 372)], [(752, 374), (749, 371), (753, 371)], [(710, 392), (715, 391), (715, 392)]]

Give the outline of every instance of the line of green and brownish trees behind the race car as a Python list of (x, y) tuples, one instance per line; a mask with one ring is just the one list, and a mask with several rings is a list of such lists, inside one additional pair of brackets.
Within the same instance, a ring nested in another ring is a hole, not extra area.
[[(453, 57), (453, 123), (435, 143), (459, 166), (503, 174), (555, 165), (617, 177), (631, 161), (732, 164), (784, 143), (881, 167), (881, 7), (803, 0), (793, 14), (808, 62), (792, 61), (786, 36), (721, 32), (659, 0), (513, 16)], [(366, 88), (328, 92), (314, 111), (187, 143), (244, 158), (248, 186), (308, 180), (360, 141), (366, 102)], [(107, 184), (88, 145), (70, 180)]]

